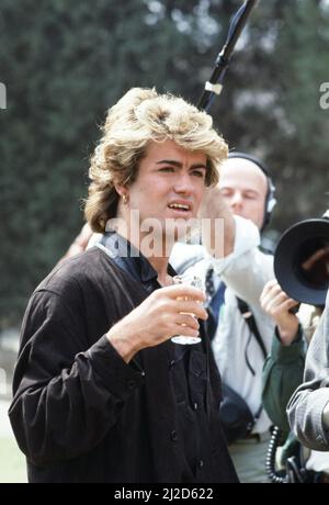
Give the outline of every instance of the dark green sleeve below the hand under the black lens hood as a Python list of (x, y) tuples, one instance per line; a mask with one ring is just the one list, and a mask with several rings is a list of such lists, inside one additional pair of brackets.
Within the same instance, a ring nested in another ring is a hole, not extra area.
[(291, 346), (282, 346), (275, 332), (271, 352), (263, 367), (262, 402), (272, 423), (285, 435), (290, 431), (286, 405), (303, 380), (304, 358), (300, 326)]

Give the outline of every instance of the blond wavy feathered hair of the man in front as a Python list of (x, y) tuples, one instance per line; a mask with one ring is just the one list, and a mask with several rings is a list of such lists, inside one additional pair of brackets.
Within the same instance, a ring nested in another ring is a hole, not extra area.
[(179, 146), (206, 155), (206, 186), (219, 179), (219, 166), (228, 147), (214, 130), (212, 117), (172, 94), (132, 88), (112, 106), (102, 127), (103, 137), (91, 157), (89, 197), (84, 216), (93, 232), (105, 231), (116, 216), (115, 184), (129, 186), (150, 142), (174, 141)]

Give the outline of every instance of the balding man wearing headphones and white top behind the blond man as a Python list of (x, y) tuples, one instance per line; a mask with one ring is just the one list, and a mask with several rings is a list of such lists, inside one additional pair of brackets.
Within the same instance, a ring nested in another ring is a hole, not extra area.
[[(262, 368), (271, 348), (274, 323), (262, 310), (260, 294), (274, 273), (273, 256), (264, 254), (259, 244), (260, 232), (269, 224), (276, 203), (274, 192), (262, 161), (245, 153), (230, 153), (220, 168), (217, 194), (213, 190), (207, 201), (207, 206), (214, 207), (220, 194), (236, 221), (232, 254), (212, 262), (207, 269), (208, 336), (224, 383), (220, 412), (229, 452), (240, 482), (249, 483), (269, 482), (265, 457), (272, 423), (262, 407), (261, 391)], [(254, 234), (258, 242), (251, 247)], [(206, 260), (202, 246), (190, 246), (189, 250), (186, 245), (178, 243), (170, 261), (179, 272), (197, 272), (204, 269)], [(228, 393), (237, 393), (237, 402), (246, 402), (251, 414), (245, 433), (245, 419), (237, 417), (242, 412), (236, 406), (235, 396), (226, 403)]]

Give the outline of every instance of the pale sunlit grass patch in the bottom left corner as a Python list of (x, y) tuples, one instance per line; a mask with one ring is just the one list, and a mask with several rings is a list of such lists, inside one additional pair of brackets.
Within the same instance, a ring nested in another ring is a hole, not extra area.
[(12, 437), (0, 437), (0, 483), (27, 482), (25, 457)]

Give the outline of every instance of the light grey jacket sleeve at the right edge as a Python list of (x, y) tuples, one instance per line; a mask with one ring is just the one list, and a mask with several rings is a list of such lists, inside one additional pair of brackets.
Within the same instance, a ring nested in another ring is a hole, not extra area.
[(329, 402), (329, 296), (320, 324), (310, 341), (304, 382), (291, 399), (287, 413), (298, 439), (315, 450), (329, 450), (329, 429), (322, 412)]

